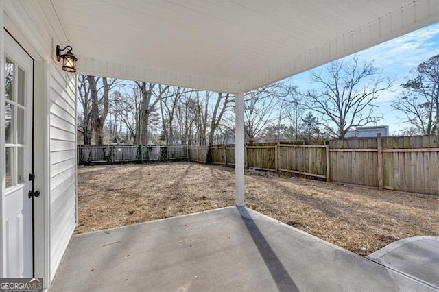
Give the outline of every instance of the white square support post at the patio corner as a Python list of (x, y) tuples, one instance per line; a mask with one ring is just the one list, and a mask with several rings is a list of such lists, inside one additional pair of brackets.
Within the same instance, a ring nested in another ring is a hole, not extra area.
[(244, 206), (244, 93), (237, 93), (235, 105), (235, 204)]

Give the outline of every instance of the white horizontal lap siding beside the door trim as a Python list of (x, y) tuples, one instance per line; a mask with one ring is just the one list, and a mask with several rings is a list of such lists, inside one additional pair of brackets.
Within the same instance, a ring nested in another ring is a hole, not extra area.
[(50, 78), (51, 278), (76, 225), (75, 75), (52, 69)]

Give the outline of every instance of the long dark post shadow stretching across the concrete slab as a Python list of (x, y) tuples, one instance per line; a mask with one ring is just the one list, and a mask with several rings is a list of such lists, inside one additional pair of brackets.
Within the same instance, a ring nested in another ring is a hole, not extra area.
[(259, 230), (256, 223), (254, 223), (246, 208), (237, 207), (237, 209), (279, 291), (299, 291), (294, 280), (289, 276), (288, 271), (285, 269), (278, 256), (276, 256), (272, 247), (270, 247), (270, 244), (261, 233), (261, 230)]

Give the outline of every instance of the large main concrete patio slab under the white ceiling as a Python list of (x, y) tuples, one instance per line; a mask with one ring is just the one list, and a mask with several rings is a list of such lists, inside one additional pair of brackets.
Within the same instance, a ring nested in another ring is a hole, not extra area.
[(248, 208), (73, 236), (51, 291), (429, 291)]

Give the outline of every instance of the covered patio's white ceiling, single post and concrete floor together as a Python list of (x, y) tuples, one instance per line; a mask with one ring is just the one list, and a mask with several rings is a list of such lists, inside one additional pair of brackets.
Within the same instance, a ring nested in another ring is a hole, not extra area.
[(237, 151), (236, 206), (73, 236), (51, 290), (437, 288), (244, 207), (244, 93), (433, 23), (437, 4), (54, 1), (81, 73), (234, 93)]

